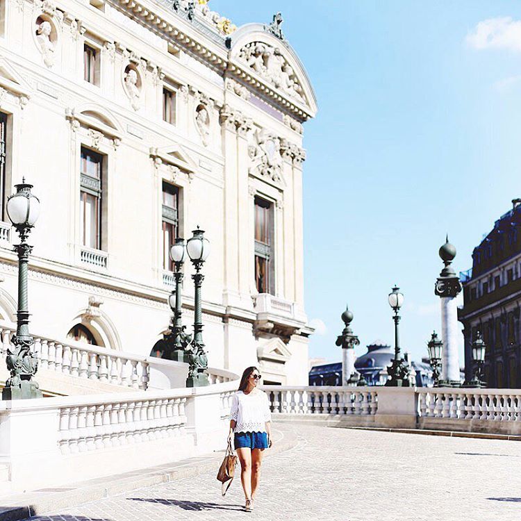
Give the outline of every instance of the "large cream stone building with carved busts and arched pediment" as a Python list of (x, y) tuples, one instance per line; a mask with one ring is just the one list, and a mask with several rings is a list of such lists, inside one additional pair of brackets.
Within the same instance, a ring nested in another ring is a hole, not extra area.
[[(34, 185), (31, 330), (149, 354), (169, 246), (201, 226), (213, 367), (305, 385), (302, 124), (317, 106), (281, 17), (205, 1), (0, 1), (0, 314), (15, 321), (13, 185)], [(185, 263), (184, 323), (193, 322)]]

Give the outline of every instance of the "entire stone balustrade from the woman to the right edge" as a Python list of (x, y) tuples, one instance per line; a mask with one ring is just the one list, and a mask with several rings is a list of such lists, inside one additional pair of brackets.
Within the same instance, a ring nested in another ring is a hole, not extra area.
[(521, 390), (264, 386), (280, 420), (521, 436)]

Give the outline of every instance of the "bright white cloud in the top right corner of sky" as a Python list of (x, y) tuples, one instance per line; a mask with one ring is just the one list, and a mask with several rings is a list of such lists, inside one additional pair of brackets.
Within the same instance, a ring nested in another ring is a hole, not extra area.
[(489, 18), (479, 22), (466, 38), (473, 49), (508, 49), (521, 52), (521, 20)]

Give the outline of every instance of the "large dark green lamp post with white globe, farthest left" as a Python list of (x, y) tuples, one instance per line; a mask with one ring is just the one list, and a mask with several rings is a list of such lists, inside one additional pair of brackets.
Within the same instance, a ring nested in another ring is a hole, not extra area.
[(20, 244), (14, 249), (18, 254), (18, 309), (16, 333), (11, 337), (7, 350), (7, 368), (10, 378), (2, 391), (2, 399), (41, 398), (42, 391), (33, 375), (38, 370), (38, 360), (31, 352), (34, 343), (29, 333), (29, 312), (27, 303), (27, 265), (32, 246), (27, 244), (27, 236), (40, 215), (40, 199), (31, 194), (33, 185), (15, 185), (16, 193), (7, 201), (7, 214), (15, 226)]

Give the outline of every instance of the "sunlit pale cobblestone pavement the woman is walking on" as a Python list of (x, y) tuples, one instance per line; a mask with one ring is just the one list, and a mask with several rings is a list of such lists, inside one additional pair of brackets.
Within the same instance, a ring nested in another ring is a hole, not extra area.
[(263, 463), (254, 511), (217, 472), (84, 504), (51, 521), (520, 521), (521, 443), (311, 426)]

